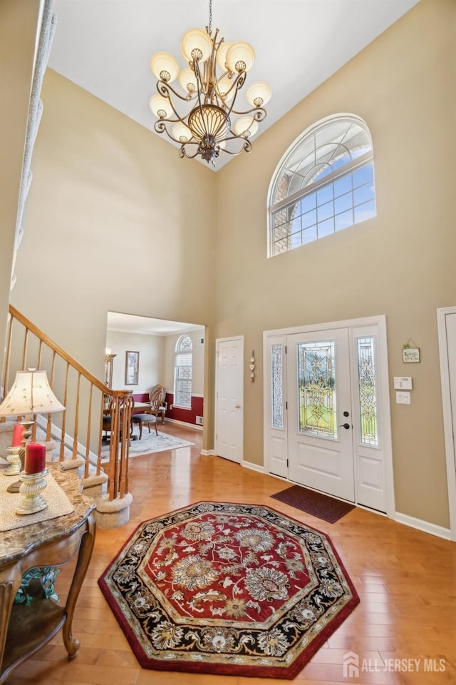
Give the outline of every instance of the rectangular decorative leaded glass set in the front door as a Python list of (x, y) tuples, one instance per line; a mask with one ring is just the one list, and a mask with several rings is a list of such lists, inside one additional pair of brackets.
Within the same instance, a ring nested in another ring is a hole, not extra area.
[(337, 437), (334, 342), (298, 344), (299, 431)]

